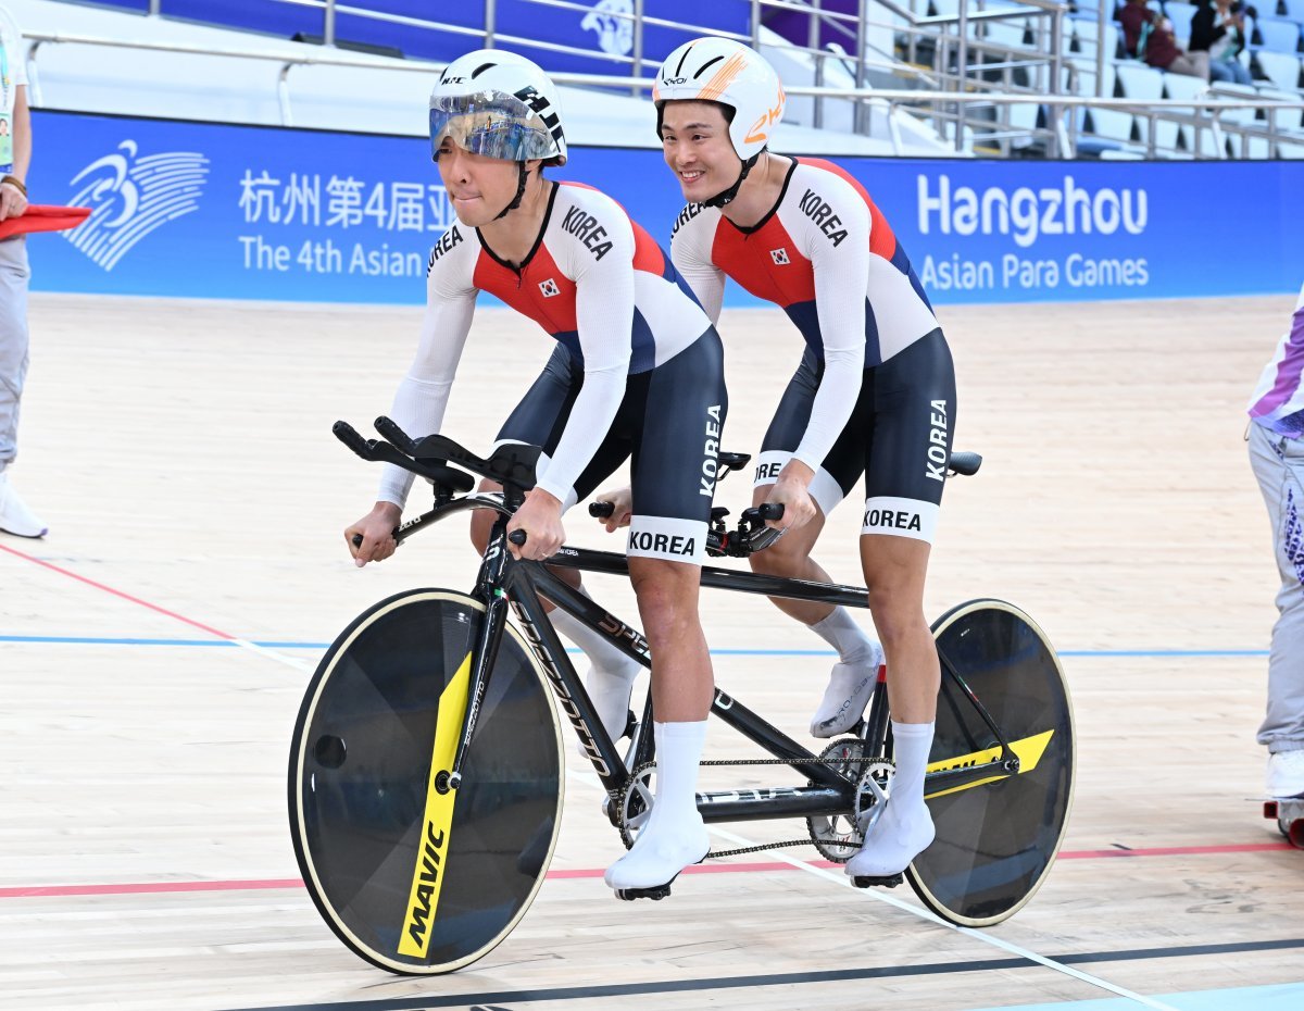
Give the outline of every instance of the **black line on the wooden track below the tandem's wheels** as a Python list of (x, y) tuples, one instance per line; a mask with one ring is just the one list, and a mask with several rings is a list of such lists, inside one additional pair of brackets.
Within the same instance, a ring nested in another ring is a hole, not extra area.
[[(1128, 951), (1088, 951), (1048, 956), (1064, 965), (1090, 965), (1099, 961), (1140, 961), (1144, 959), (1179, 959), (1198, 955), (1234, 955), (1247, 951), (1282, 951), (1304, 948), (1304, 938), (1283, 941), (1241, 941), (1230, 944), (1189, 944), (1187, 947), (1132, 948)], [(276, 1007), (244, 1007), (230, 1011), (433, 1011), (441, 1007), (480, 1007), (484, 1011), (511, 1011), (490, 1004), (523, 1004), (542, 1001), (582, 1001), (600, 997), (642, 997), (696, 990), (745, 990), (755, 986), (792, 986), (793, 984), (841, 982), (845, 980), (882, 980), (901, 976), (943, 976), (958, 972), (990, 972), (1041, 967), (1024, 958), (983, 959), (975, 961), (934, 961), (921, 965), (884, 965), (862, 969), (825, 969), (820, 972), (788, 972), (769, 976), (717, 976), (705, 980), (668, 980), (664, 982), (602, 984), (565, 986), (549, 990), (496, 990), (490, 993), (441, 994), (430, 997), (396, 997), (381, 1001), (340, 1001), (323, 1004), (282, 1004)], [(1045, 967), (1041, 967), (1045, 968)], [(415, 978), (415, 977), (408, 977)]]

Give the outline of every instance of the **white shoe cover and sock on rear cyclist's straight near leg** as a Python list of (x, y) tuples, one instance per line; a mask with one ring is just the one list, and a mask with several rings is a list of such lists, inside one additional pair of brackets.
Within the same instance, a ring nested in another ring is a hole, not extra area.
[(846, 865), (853, 878), (889, 878), (905, 870), (934, 837), (932, 815), (923, 802), (923, 776), (932, 749), (931, 723), (892, 721), (896, 775), (883, 814), (865, 845)]

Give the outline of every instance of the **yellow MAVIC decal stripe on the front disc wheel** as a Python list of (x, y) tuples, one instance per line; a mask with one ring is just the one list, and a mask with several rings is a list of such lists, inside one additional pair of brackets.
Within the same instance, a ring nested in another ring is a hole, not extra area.
[(424, 959), (430, 950), (430, 926), (434, 911), (439, 907), (449, 832), (452, 831), (452, 802), (458, 796), (455, 789), (439, 793), (434, 781), (439, 772), (452, 768), (452, 757), (458, 751), (458, 737), (467, 712), (469, 682), (471, 654), (467, 654), (458, 673), (439, 695), (439, 715), (434, 724), (434, 751), (430, 758), (430, 781), (425, 788), (421, 847), (417, 851), (416, 870), (412, 871), (412, 892), (408, 895), (408, 911), (399, 938), (399, 955), (416, 959)]

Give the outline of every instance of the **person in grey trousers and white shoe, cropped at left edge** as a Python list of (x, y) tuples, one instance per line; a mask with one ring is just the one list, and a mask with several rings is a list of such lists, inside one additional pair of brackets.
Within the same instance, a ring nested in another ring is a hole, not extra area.
[[(31, 116), (27, 112), (27, 53), (22, 33), (0, 7), (0, 220), (27, 209), (27, 166), (31, 163)], [(0, 240), (0, 531), (40, 537), (42, 523), (9, 484), (17, 454), (18, 400), (27, 373), (27, 240)]]

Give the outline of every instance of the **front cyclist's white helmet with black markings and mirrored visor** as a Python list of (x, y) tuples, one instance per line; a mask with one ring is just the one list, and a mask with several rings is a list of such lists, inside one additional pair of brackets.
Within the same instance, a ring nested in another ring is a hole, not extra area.
[(505, 50), (477, 50), (443, 68), (430, 91), (430, 150), (451, 137), (488, 158), (566, 164), (557, 85), (536, 64)]

